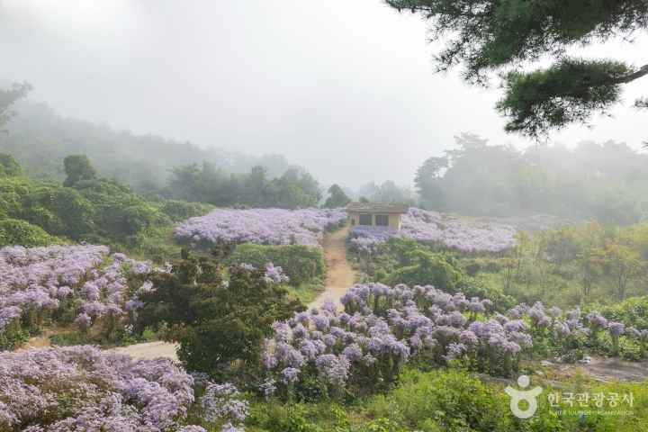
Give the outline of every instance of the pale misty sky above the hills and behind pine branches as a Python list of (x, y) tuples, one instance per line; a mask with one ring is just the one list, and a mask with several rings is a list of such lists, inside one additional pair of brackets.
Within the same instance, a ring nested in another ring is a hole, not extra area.
[[(647, 47), (586, 54), (643, 64)], [(0, 78), (29, 81), (33, 99), (117, 129), (284, 154), (325, 184), (410, 184), (462, 131), (530, 144), (502, 131), (497, 85), (434, 75), (434, 52), (418, 16), (381, 0), (0, 0)], [(629, 106), (642, 94), (648, 77), (626, 85), (614, 118), (552, 138), (639, 148), (648, 112)]]

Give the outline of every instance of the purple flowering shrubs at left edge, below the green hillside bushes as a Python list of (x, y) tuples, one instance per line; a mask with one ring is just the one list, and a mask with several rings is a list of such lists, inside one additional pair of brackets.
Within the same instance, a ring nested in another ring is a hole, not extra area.
[(112, 334), (132, 323), (139, 294), (153, 271), (148, 262), (103, 246), (3, 247), (0, 249), (0, 335), (18, 320), (38, 330), (49, 320), (76, 323), (87, 331), (98, 323)]

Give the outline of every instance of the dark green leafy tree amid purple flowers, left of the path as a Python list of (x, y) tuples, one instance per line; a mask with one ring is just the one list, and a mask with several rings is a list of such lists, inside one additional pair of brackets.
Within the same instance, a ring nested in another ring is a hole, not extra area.
[(180, 343), (178, 356), (189, 370), (220, 380), (255, 374), (272, 324), (303, 311), (302, 303), (267, 281), (263, 270), (226, 271), (211, 257), (183, 256), (170, 273), (150, 278), (156, 290), (142, 296), (139, 325), (166, 322), (166, 338)]

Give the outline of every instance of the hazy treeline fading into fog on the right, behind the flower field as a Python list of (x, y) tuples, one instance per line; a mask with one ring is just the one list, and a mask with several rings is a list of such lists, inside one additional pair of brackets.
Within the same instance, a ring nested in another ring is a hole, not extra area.
[(626, 144), (581, 142), (576, 148), (538, 145), (520, 151), (487, 145), (473, 134), (458, 148), (430, 157), (415, 183), (422, 204), (466, 215), (550, 213), (604, 224), (648, 216), (648, 155)]

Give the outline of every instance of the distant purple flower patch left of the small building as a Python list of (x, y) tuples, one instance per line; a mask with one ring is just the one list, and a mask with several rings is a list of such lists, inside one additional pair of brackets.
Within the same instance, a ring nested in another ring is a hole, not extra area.
[(347, 219), (343, 209), (219, 209), (175, 227), (181, 241), (211, 245), (318, 245), (323, 232)]

